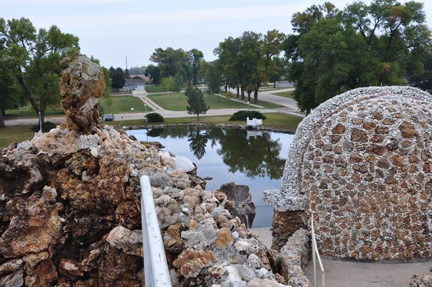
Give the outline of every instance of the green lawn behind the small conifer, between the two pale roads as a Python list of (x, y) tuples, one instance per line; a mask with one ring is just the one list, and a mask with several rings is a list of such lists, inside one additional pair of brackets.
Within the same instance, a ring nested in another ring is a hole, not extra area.
[[(184, 93), (170, 93), (148, 96), (153, 102), (170, 111), (186, 111), (187, 97)], [(247, 105), (235, 101), (229, 101), (224, 97), (211, 96), (204, 93), (204, 100), (210, 109), (244, 109)]]

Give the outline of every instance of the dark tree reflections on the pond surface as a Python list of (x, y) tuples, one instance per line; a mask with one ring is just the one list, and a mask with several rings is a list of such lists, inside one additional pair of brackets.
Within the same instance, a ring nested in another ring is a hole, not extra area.
[(280, 179), (285, 167), (285, 159), (280, 157), (282, 149), (279, 139), (272, 140), (268, 132), (257, 138), (247, 138), (246, 130), (222, 128), (165, 128), (151, 130), (148, 135), (160, 134), (161, 138), (188, 138), (191, 152), (201, 159), (205, 155), (207, 142), (212, 147), (219, 144), (217, 154), (222, 157), (229, 172), (241, 172), (247, 177)]

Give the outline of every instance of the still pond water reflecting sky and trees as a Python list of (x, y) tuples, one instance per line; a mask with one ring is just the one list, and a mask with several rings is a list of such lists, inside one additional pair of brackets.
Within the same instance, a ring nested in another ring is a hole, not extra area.
[(271, 226), (273, 208), (263, 202), (263, 191), (279, 189), (293, 135), (222, 128), (164, 128), (129, 130), (141, 141), (158, 141), (166, 151), (187, 157), (198, 166), (198, 176), (211, 177), (206, 190), (224, 183), (247, 185), (256, 206), (253, 227)]

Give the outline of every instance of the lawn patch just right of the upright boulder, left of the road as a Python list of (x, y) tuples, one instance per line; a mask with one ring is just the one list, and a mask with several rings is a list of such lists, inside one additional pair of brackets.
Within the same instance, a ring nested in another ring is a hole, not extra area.
[[(99, 104), (104, 108), (104, 114), (119, 114), (119, 113), (131, 113), (131, 112), (145, 112), (144, 103), (140, 98), (133, 96), (116, 96), (112, 97), (113, 103), (108, 106), (102, 99)], [(131, 111), (131, 108), (134, 108)], [(153, 111), (152, 108), (147, 106), (147, 112)]]

